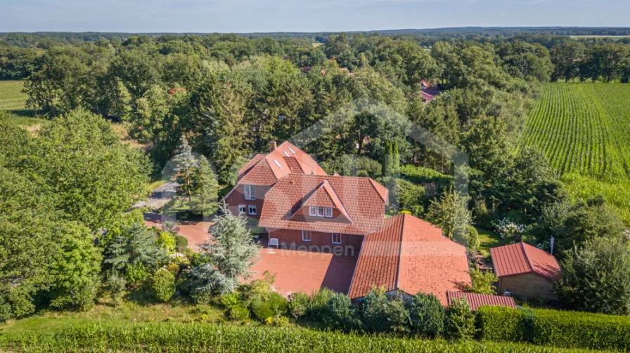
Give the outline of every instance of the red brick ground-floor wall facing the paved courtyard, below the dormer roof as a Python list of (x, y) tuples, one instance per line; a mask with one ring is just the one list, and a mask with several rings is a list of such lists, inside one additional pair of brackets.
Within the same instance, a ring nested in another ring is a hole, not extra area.
[(281, 248), (343, 255), (359, 255), (364, 239), (362, 235), (341, 234), (341, 244), (333, 244), (333, 234), (311, 232), (311, 241), (302, 241), (302, 231), (295, 229), (269, 229), (269, 237), (278, 238)]

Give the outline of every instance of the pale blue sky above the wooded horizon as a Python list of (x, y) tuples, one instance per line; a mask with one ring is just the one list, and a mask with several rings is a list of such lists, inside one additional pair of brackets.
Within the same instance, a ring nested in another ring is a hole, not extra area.
[(630, 27), (629, 0), (0, 0), (0, 32)]

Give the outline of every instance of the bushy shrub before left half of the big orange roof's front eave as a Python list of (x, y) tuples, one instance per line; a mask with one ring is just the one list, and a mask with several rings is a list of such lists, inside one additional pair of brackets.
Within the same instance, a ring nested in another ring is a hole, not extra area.
[(389, 298), (385, 295), (385, 288), (373, 288), (366, 295), (361, 308), (362, 321), (368, 331), (405, 332), (409, 331), (411, 319), (401, 298)]

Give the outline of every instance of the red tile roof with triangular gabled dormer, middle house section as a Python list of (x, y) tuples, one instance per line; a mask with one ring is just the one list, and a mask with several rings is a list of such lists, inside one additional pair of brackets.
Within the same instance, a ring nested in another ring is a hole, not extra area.
[[(361, 235), (374, 232), (383, 227), (385, 201), (381, 199), (372, 182), (370, 178), (288, 174), (266, 193), (259, 226)], [(345, 209), (347, 218), (352, 222), (326, 218), (291, 218), (320, 187), (326, 193), (336, 196), (336, 200), (333, 197), (328, 202), (333, 206), (337, 205), (335, 207), (340, 210)]]

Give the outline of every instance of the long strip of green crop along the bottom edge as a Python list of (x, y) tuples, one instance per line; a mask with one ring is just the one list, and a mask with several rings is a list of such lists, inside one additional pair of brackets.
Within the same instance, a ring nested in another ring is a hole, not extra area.
[(53, 333), (0, 335), (10, 352), (578, 352), (518, 343), (446, 342), (266, 326), (84, 324)]

